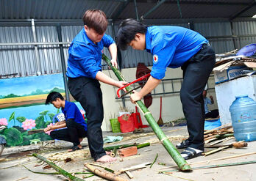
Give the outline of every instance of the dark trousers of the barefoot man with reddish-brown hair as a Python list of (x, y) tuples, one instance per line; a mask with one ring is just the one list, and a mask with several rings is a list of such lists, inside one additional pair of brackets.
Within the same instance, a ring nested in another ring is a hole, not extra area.
[(106, 152), (103, 149), (102, 122), (103, 104), (102, 90), (99, 81), (92, 78), (68, 78), (68, 89), (71, 95), (85, 109), (88, 118), (88, 144), (90, 155), (98, 160)]

